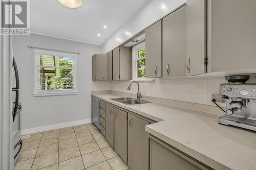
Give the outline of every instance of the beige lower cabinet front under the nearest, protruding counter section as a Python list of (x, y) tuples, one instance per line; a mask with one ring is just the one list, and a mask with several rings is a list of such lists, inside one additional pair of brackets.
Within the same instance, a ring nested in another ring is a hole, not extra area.
[(150, 139), (150, 170), (196, 170), (212, 169), (185, 153), (161, 142), (157, 138)]

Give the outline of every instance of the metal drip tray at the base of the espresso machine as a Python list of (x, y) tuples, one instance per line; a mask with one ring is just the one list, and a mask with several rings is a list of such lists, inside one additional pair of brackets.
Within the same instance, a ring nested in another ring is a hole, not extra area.
[(256, 120), (248, 119), (246, 117), (237, 117), (225, 114), (218, 118), (218, 123), (256, 131)]

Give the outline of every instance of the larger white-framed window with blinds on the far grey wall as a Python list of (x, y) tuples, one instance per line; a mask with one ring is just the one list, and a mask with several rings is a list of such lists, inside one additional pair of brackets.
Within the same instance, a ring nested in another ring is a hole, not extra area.
[(76, 54), (35, 50), (34, 96), (76, 92)]

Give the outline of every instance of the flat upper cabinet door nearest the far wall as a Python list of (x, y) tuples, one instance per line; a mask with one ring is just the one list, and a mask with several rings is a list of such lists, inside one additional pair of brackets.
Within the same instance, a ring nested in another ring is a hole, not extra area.
[(96, 80), (107, 80), (106, 54), (96, 54)]

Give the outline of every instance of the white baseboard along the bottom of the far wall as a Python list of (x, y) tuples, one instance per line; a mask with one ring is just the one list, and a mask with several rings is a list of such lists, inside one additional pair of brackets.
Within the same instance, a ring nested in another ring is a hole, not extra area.
[(91, 118), (89, 118), (89, 119), (77, 120), (77, 121), (74, 121), (74, 122), (54, 124), (54, 125), (42, 126), (42, 127), (37, 127), (37, 128), (31, 128), (31, 129), (24, 129), (24, 130), (22, 130), (22, 135), (28, 135), (28, 134), (37, 133), (37, 132), (50, 131), (50, 130), (60, 129), (60, 128), (67, 128), (67, 127), (70, 127), (70, 126), (76, 126), (76, 125), (82, 125), (82, 124), (89, 124), (91, 122), (92, 122), (92, 120), (91, 120)]

